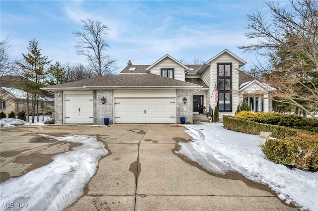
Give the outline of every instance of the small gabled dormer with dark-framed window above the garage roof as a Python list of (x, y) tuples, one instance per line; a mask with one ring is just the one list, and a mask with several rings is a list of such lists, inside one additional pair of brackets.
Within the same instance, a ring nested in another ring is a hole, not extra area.
[(182, 64), (169, 54), (166, 54), (155, 63), (147, 67), (146, 71), (156, 75), (185, 81), (185, 73), (189, 71), (189, 67)]

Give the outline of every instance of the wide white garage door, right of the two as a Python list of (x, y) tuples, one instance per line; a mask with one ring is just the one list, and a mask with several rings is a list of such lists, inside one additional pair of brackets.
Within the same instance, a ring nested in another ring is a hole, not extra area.
[(175, 123), (175, 98), (115, 98), (115, 123)]

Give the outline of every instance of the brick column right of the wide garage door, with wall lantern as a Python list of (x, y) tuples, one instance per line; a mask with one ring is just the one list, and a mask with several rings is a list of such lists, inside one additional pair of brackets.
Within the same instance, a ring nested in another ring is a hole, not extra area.
[[(186, 104), (184, 105), (183, 98), (187, 99)], [(176, 90), (176, 107), (177, 107), (177, 123), (180, 122), (180, 117), (185, 117), (185, 122), (193, 122), (193, 113), (192, 113), (192, 90), (191, 89), (177, 89)]]

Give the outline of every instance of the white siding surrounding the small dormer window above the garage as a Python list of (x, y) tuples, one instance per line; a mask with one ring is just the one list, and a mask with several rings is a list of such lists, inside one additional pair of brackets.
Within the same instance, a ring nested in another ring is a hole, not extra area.
[(179, 64), (175, 63), (170, 58), (164, 58), (158, 64), (150, 69), (150, 73), (161, 75), (162, 68), (174, 68), (174, 79), (185, 81), (185, 69), (184, 67), (180, 66)]

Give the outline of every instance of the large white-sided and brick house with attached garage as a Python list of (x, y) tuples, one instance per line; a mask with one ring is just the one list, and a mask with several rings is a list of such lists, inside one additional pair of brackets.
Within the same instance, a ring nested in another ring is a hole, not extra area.
[(129, 60), (119, 75), (42, 89), (55, 93), (57, 124), (103, 124), (103, 118), (110, 123), (180, 123), (180, 117), (192, 122), (193, 114), (216, 105), (222, 119), (234, 115), (244, 98), (256, 111), (270, 111), (267, 86), (252, 77), (240, 82), (244, 64), (228, 50), (203, 65), (185, 65), (166, 54), (151, 65)]

